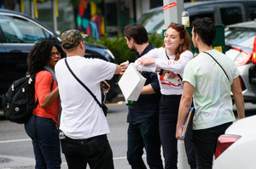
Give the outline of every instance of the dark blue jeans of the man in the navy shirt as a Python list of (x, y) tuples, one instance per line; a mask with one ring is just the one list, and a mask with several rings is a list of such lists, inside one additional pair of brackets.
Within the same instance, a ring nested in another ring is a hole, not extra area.
[(143, 148), (146, 149), (150, 169), (162, 169), (159, 120), (157, 118), (138, 124), (129, 124), (127, 160), (132, 169), (147, 168), (142, 158)]

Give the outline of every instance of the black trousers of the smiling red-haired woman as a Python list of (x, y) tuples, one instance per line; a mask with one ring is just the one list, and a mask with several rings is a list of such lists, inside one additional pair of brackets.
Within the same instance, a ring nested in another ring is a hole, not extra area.
[[(160, 140), (165, 157), (165, 169), (177, 169), (177, 114), (181, 95), (162, 95), (160, 99)], [(191, 142), (192, 126), (185, 138), (185, 150), (191, 169), (196, 168), (195, 150)]]

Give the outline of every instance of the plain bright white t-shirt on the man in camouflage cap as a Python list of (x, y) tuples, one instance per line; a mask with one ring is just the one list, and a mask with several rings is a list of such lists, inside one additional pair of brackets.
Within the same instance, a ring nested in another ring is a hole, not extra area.
[[(85, 59), (80, 56), (67, 57), (67, 63), (73, 73), (101, 102), (100, 82), (113, 77), (116, 65), (102, 59)], [(91, 138), (108, 133), (108, 121), (102, 108), (72, 76), (64, 59), (55, 65), (55, 76), (61, 98), (61, 131), (73, 139)]]

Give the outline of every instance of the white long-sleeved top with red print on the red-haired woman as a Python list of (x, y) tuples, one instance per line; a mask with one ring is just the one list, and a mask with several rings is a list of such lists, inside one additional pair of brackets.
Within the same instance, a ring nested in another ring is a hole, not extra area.
[[(153, 65), (150, 65), (151, 70), (155, 70), (156, 66), (160, 67), (163, 70), (170, 70), (175, 74), (179, 74), (183, 77), (183, 70), (185, 65), (189, 62), (189, 60), (193, 59), (193, 54), (186, 50), (182, 54), (180, 54), (179, 59), (176, 61), (175, 56), (171, 55), (168, 56), (169, 59), (166, 56), (166, 48), (154, 48), (148, 52), (148, 54), (144, 54), (143, 57), (145, 58), (155, 58), (155, 65), (153, 68)], [(148, 66), (144, 66), (146, 69)], [(148, 67), (148, 68), (149, 68)], [(183, 83), (182, 81), (178, 82), (177, 84), (172, 84), (172, 82), (167, 82), (164, 79), (165, 75), (159, 76), (159, 82), (160, 82), (160, 91), (162, 94), (165, 95), (180, 95), (183, 93)], [(178, 77), (177, 77), (178, 78)]]

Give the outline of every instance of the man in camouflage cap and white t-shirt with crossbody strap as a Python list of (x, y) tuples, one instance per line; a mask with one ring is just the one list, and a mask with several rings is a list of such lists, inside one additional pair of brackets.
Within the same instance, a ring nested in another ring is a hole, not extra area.
[[(119, 74), (120, 66), (102, 59), (84, 58), (84, 39), (78, 30), (65, 31), (62, 48), (67, 52), (67, 64), (96, 99), (102, 100), (100, 82)], [(61, 126), (64, 133), (61, 149), (68, 168), (113, 169), (113, 153), (108, 143), (108, 121), (102, 108), (67, 69), (65, 59), (55, 65), (61, 97)]]

